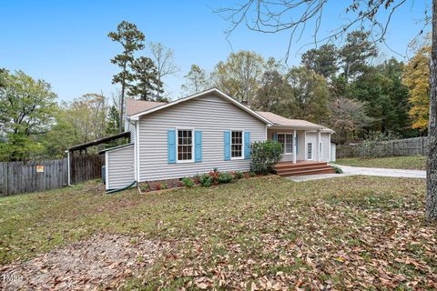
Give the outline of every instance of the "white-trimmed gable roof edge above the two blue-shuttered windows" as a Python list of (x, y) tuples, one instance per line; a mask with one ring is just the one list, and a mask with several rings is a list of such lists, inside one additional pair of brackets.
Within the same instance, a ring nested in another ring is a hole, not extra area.
[(147, 109), (145, 111), (139, 112), (139, 113), (134, 114), (134, 115), (129, 115), (128, 118), (131, 119), (131, 120), (138, 120), (139, 117), (141, 117), (143, 115), (148, 115), (150, 113), (157, 112), (158, 110), (161, 110), (161, 109), (164, 109), (164, 108), (168, 108), (170, 106), (178, 105), (178, 104), (183, 103), (183, 102), (188, 102), (189, 100), (192, 100), (192, 99), (195, 99), (195, 98), (201, 98), (203, 96), (208, 96), (210, 94), (218, 95), (219, 97), (229, 101), (230, 104), (236, 105), (237, 107), (239, 107), (240, 109), (246, 111), (250, 115), (253, 115), (254, 117), (258, 118), (259, 120), (261, 120), (265, 124), (268, 124), (268, 125), (271, 124), (269, 119), (265, 118), (262, 115), (259, 115), (257, 112), (251, 110), (249, 107), (247, 107), (245, 105), (242, 105), (241, 103), (239, 103), (239, 101), (235, 100), (234, 98), (230, 97), (229, 95), (224, 94), (223, 92), (221, 92), (217, 88), (212, 88), (212, 89), (200, 92), (200, 93), (195, 94), (195, 95), (189, 95), (187, 97), (180, 98), (178, 100), (175, 100), (175, 101), (167, 103), (167, 104), (153, 106), (153, 107), (151, 107), (151, 108), (149, 108), (149, 109)]

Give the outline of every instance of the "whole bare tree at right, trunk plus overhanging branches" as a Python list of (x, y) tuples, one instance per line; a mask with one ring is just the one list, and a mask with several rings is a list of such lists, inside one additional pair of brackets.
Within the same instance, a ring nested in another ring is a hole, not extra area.
[[(330, 0), (247, 0), (235, 7), (217, 10), (230, 26), (228, 36), (239, 26), (245, 25), (250, 30), (261, 33), (278, 33), (288, 31), (290, 47), (293, 41), (299, 41), (307, 26), (314, 27), (312, 44), (328, 43), (337, 40), (351, 30), (366, 30), (373, 42), (385, 44), (385, 36), (391, 24), (392, 15), (409, 2), (407, 0), (341, 1), (344, 13), (348, 15), (338, 27), (319, 38), (320, 27), (324, 20), (323, 12), (334, 1)], [(337, 3), (337, 2), (336, 2)], [(410, 5), (415, 5), (412, 2)], [(432, 17), (426, 7), (423, 26), (432, 20), (432, 54), (430, 66), (430, 152), (427, 162), (426, 217), (437, 221), (437, 0), (432, 0)], [(331, 19), (328, 19), (331, 21)], [(423, 31), (423, 29), (422, 29)], [(418, 32), (418, 35), (422, 34)], [(326, 33), (326, 32), (323, 32)], [(388, 46), (388, 45), (387, 45)]]

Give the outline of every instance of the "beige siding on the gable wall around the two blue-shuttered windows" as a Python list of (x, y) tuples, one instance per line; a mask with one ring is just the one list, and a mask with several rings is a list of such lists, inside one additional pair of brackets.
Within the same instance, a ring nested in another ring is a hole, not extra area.
[[(202, 131), (202, 162), (168, 164), (168, 130)], [(224, 160), (224, 131), (250, 132), (250, 142), (266, 139), (266, 125), (217, 95), (169, 106), (139, 121), (140, 181), (193, 176), (211, 171), (248, 171), (250, 160)]]

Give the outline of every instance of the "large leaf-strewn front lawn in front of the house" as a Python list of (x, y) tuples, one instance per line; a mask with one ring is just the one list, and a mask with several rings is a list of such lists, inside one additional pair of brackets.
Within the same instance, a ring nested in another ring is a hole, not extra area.
[(0, 199), (0, 260), (27, 260), (94, 233), (171, 246), (122, 287), (155, 290), (434, 289), (437, 227), (422, 179), (277, 176), (139, 195), (90, 182)]

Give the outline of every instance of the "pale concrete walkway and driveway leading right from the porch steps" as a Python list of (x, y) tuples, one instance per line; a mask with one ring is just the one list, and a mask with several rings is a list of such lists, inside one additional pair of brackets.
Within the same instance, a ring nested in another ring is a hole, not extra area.
[(320, 174), (320, 175), (307, 175), (307, 176), (290, 176), (290, 180), (295, 182), (304, 182), (310, 180), (328, 179), (333, 177), (342, 176), (393, 176), (404, 178), (426, 178), (426, 171), (422, 170), (402, 170), (402, 169), (384, 169), (377, 167), (360, 167), (360, 166), (342, 166), (335, 165), (343, 170), (343, 174)]

